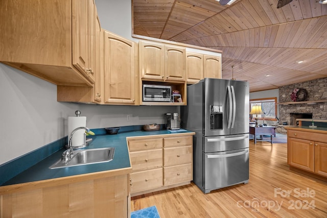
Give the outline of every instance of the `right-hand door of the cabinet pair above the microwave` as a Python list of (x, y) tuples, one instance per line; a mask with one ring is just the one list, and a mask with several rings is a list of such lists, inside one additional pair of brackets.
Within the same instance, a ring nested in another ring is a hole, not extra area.
[(165, 45), (165, 80), (185, 81), (186, 49), (172, 45)]

